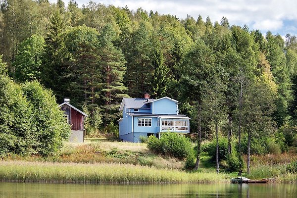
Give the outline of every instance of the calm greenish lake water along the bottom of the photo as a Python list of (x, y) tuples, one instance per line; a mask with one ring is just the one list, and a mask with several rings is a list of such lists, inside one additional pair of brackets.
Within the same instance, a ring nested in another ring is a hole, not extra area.
[(0, 182), (0, 198), (297, 198), (294, 184), (83, 185)]

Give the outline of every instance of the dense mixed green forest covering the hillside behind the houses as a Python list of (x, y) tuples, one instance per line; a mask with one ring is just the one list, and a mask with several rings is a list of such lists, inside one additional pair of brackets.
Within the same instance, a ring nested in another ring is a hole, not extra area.
[(229, 154), (297, 149), (295, 35), (93, 1), (0, 2), (7, 75), (70, 98), (90, 134), (116, 134), (122, 98), (148, 92), (180, 101), (198, 142), (226, 137)]

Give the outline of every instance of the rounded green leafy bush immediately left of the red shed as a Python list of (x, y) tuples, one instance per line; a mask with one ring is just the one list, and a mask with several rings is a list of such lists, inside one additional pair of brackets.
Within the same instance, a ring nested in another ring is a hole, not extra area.
[(26, 82), (22, 90), (30, 102), (32, 124), (36, 129), (32, 137), (32, 148), (43, 156), (56, 152), (70, 133), (64, 112), (56, 104), (52, 92), (44, 89), (40, 83)]

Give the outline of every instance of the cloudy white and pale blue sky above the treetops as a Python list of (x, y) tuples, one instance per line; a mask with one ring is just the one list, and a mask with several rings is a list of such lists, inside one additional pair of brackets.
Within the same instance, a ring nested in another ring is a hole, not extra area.
[[(50, 0), (55, 2), (55, 0)], [(76, 0), (81, 7), (89, 0)], [(226, 17), (231, 25), (259, 29), (263, 35), (270, 30), (274, 35), (285, 37), (287, 33), (297, 35), (297, 0), (93, 0), (105, 5), (137, 10), (142, 7), (159, 14), (176, 15), (184, 19), (191, 15), (195, 19), (201, 15), (205, 21), (220, 22)], [(64, 0), (68, 4), (68, 0)]]

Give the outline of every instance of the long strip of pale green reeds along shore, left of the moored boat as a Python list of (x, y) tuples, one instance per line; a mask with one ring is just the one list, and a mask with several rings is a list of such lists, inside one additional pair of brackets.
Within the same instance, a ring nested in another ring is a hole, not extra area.
[(215, 183), (226, 174), (189, 173), (132, 164), (0, 161), (0, 181), (45, 183)]

